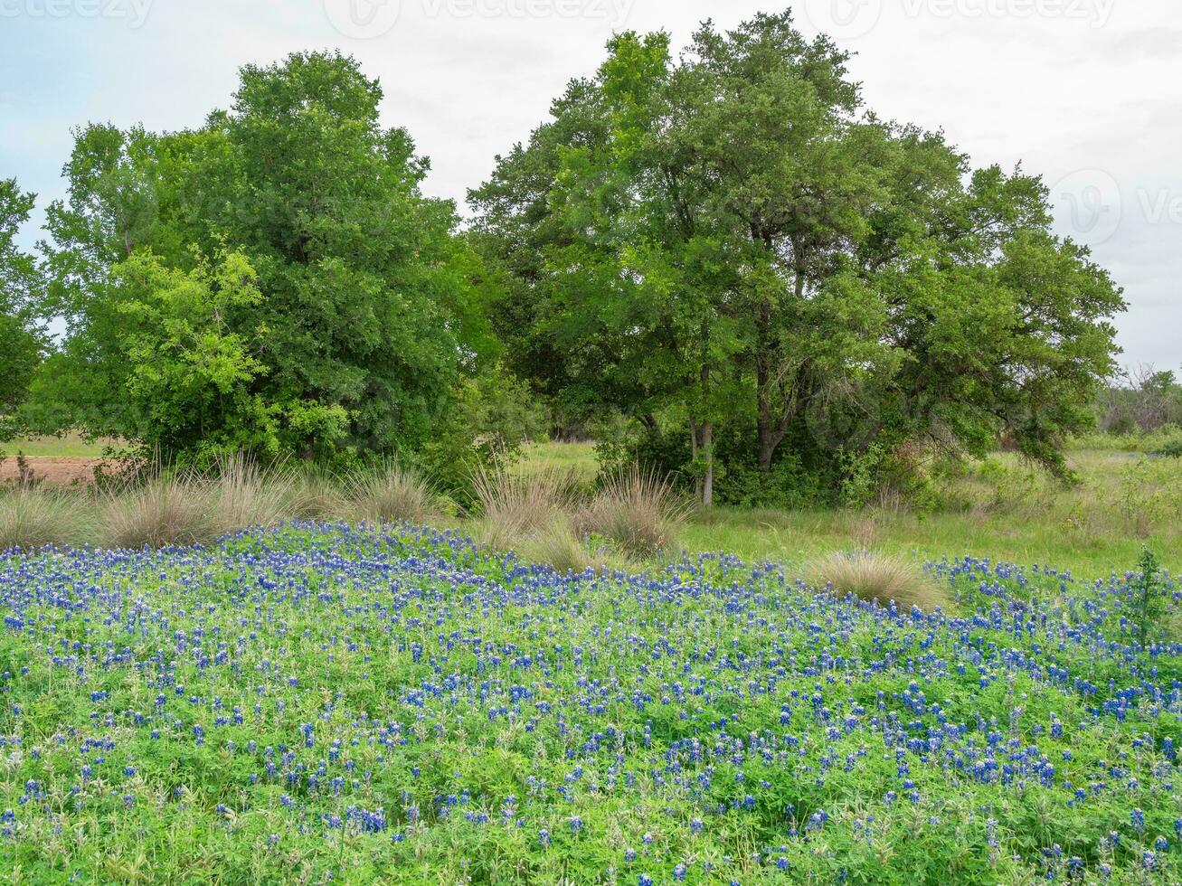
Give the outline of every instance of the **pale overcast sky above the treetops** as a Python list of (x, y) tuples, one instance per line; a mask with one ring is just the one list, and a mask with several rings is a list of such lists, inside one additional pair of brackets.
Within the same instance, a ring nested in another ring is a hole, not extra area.
[[(61, 196), (70, 128), (201, 125), (240, 65), (340, 47), (381, 79), (383, 122), (456, 200), (595, 71), (615, 31), (730, 27), (780, 0), (0, 0), (0, 177)], [(1022, 162), (1060, 233), (1125, 287), (1128, 364), (1182, 365), (1180, 0), (799, 0), (857, 53), (881, 117), (942, 128), (975, 165)], [(31, 226), (24, 240), (39, 232)]]

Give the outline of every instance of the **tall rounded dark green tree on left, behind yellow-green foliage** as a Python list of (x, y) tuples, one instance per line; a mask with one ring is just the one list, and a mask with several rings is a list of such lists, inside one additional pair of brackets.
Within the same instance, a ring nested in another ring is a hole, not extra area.
[[(82, 130), (69, 198), (50, 211), (45, 310), (69, 332), (43, 419), (190, 454), (212, 441), (306, 457), (427, 441), (489, 338), (455, 208), (423, 196), (428, 163), (404, 130), (381, 126), (381, 100), (352, 59), (304, 53), (245, 67), (229, 110), (200, 130)], [(217, 282), (227, 261), (256, 294)], [(215, 313), (180, 297), (202, 287), (225, 300)], [(115, 405), (160, 356), (111, 325), (129, 301), (143, 317), (193, 308), (193, 332), (235, 351), (234, 395), (216, 373), (190, 376), (173, 432)], [(214, 400), (235, 411), (210, 438)]]

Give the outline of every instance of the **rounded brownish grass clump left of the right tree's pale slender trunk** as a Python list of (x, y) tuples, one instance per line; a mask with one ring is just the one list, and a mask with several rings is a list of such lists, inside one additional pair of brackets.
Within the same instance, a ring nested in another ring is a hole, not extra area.
[(579, 514), (578, 529), (602, 535), (628, 556), (649, 558), (676, 543), (687, 513), (667, 478), (634, 467), (606, 482)]

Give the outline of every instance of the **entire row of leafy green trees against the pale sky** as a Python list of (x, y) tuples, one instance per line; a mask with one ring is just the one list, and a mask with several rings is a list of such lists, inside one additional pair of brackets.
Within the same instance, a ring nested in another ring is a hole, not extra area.
[(37, 255), (0, 181), (7, 432), (459, 482), (548, 424), (704, 503), (856, 495), (999, 435), (1065, 474), (1122, 291), (1038, 176), (879, 119), (847, 60), (791, 12), (677, 57), (618, 34), (467, 227), (339, 52), (243, 67), (200, 129), (86, 125)]

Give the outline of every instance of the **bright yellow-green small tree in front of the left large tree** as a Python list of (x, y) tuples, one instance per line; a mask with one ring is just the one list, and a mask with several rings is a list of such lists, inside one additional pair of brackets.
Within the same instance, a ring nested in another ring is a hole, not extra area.
[(78, 423), (199, 467), (242, 450), (275, 457), (307, 434), (330, 444), (345, 435), (340, 406), (266, 399), (268, 369), (255, 357), (266, 335), (242, 323), (262, 294), (241, 253), (182, 271), (142, 249), (112, 280), (38, 377), (32, 421)]

